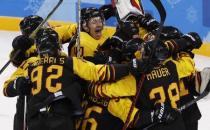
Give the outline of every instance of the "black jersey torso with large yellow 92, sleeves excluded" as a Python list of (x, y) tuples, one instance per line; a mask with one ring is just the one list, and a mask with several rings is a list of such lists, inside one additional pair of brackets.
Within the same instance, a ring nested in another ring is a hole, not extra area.
[[(30, 59), (29, 59), (30, 60)], [(50, 57), (43, 56), (37, 57), (33, 63), (28, 64), (27, 70), (24, 72), (26, 77), (29, 77), (31, 81), (31, 98), (29, 101), (29, 110), (41, 109), (35, 107), (48, 99), (51, 95), (64, 90), (71, 90), (74, 92), (74, 99), (79, 104), (81, 92), (75, 90), (81, 90), (75, 88), (73, 85), (76, 81), (76, 77), (73, 74), (72, 61), (66, 56)], [(80, 86), (76, 86), (80, 87)], [(75, 96), (76, 95), (76, 96)], [(68, 96), (68, 97), (71, 97)], [(66, 96), (67, 97), (67, 96)], [(71, 109), (71, 98), (69, 102), (65, 100), (65, 107)], [(52, 99), (53, 100), (53, 99)], [(44, 104), (48, 105), (48, 103)], [(78, 105), (79, 106), (79, 105)]]

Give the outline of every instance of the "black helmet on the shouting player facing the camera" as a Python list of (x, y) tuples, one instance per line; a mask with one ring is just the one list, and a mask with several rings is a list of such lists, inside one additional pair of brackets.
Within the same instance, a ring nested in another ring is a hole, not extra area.
[(89, 8), (83, 8), (81, 9), (81, 24), (82, 29), (84, 26), (86, 26), (86, 23), (94, 17), (101, 17), (101, 19), (104, 21), (104, 15), (99, 11), (99, 9), (94, 7)]

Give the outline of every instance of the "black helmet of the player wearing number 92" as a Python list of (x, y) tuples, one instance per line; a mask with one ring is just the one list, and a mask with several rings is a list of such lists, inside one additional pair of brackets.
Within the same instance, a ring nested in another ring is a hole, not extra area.
[(39, 55), (57, 56), (61, 50), (58, 33), (51, 28), (41, 28), (37, 32), (35, 42)]

